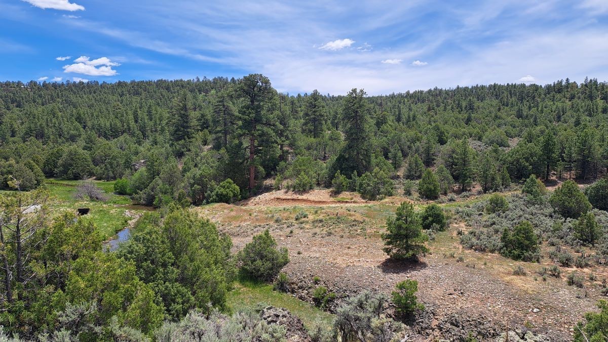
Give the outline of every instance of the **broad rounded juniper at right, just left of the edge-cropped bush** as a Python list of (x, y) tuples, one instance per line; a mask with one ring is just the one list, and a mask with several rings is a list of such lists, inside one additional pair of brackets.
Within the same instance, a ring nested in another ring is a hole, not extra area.
[(566, 180), (553, 191), (549, 198), (551, 206), (564, 217), (577, 219), (581, 214), (591, 209), (591, 203), (578, 185), (572, 180)]

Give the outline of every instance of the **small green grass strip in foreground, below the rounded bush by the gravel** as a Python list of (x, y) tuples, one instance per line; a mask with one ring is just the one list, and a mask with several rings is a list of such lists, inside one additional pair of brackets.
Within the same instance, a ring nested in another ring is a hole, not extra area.
[(234, 290), (228, 294), (228, 305), (234, 311), (255, 309), (260, 303), (264, 303), (289, 310), (298, 316), (307, 328), (314, 324), (321, 324), (325, 329), (331, 329), (334, 315), (291, 295), (274, 291), (269, 284), (238, 281), (235, 282), (234, 287)]

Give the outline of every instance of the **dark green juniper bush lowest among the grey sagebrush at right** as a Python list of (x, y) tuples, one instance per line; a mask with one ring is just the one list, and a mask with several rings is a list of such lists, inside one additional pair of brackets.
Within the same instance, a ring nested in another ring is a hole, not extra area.
[(537, 252), (539, 246), (538, 238), (528, 221), (522, 221), (516, 225), (513, 233), (505, 228), (500, 241), (503, 245), (501, 253), (516, 260), (525, 259), (528, 253)]

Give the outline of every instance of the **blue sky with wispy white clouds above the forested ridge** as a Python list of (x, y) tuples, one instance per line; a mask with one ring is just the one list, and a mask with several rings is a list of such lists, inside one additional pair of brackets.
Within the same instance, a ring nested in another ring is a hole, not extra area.
[(21, 81), (260, 72), (291, 94), (604, 81), (608, 0), (0, 0), (0, 63)]

